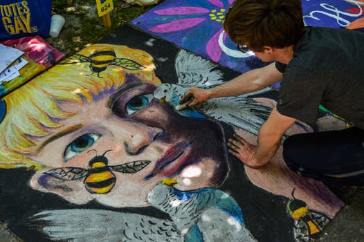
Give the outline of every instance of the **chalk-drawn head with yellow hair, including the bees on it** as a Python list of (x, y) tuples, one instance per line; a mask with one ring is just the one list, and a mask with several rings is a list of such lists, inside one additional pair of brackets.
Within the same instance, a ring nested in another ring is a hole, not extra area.
[[(95, 56), (104, 68), (90, 75)], [(35, 169), (33, 189), (75, 204), (147, 206), (165, 178), (181, 190), (221, 185), (228, 174), (221, 124), (181, 115), (154, 97), (160, 84), (143, 50), (88, 46), (4, 99), (2, 167)]]

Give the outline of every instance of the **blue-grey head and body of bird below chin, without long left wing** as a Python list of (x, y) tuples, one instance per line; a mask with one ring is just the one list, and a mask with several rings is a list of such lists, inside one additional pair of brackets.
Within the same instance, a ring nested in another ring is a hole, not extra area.
[(148, 201), (170, 215), (185, 241), (256, 241), (244, 226), (242, 210), (219, 189), (202, 188), (183, 192), (159, 184)]

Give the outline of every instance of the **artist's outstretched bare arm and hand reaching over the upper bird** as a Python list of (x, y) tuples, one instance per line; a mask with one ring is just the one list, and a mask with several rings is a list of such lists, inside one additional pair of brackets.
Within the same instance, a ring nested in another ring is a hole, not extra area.
[(282, 73), (275, 68), (275, 63), (269, 64), (262, 68), (257, 68), (232, 80), (225, 82), (213, 89), (198, 89), (192, 86), (181, 100), (181, 104), (191, 98), (192, 102), (188, 106), (205, 102), (215, 97), (228, 97), (234, 95), (242, 95), (264, 89), (266, 86), (274, 84), (282, 80)]

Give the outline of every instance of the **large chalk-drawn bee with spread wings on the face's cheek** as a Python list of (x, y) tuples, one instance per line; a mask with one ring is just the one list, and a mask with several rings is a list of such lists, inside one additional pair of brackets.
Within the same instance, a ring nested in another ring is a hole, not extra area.
[[(110, 151), (110, 150), (108, 150)], [(59, 178), (61, 180), (78, 180), (84, 178), (84, 187), (91, 194), (107, 194), (113, 189), (116, 183), (116, 176), (112, 171), (121, 173), (135, 173), (147, 165), (149, 160), (135, 160), (122, 165), (108, 165), (108, 160), (104, 156), (95, 156), (89, 161), (88, 169), (80, 167), (58, 167), (45, 171), (44, 174)]]

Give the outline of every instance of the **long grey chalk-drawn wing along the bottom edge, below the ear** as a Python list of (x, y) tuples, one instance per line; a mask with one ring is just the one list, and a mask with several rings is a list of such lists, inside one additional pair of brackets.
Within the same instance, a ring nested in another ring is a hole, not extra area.
[(183, 241), (172, 221), (109, 210), (48, 210), (33, 225), (52, 241)]

